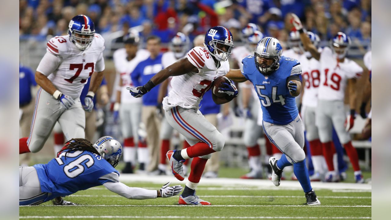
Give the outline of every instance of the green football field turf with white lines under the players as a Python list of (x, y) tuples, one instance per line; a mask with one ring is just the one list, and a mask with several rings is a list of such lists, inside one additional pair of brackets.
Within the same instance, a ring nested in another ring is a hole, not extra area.
[[(122, 178), (122, 179), (121, 179)], [(181, 184), (172, 176), (122, 175), (128, 186), (159, 189), (167, 181)], [(79, 206), (21, 206), (20, 218), (28, 219), (370, 219), (371, 185), (313, 183), (321, 206), (304, 205), (297, 181), (283, 181), (275, 187), (270, 180), (233, 178), (201, 179), (200, 198), (212, 206), (179, 206), (178, 196), (151, 200), (128, 200), (103, 186), (65, 197)]]

